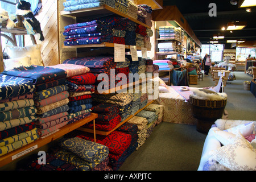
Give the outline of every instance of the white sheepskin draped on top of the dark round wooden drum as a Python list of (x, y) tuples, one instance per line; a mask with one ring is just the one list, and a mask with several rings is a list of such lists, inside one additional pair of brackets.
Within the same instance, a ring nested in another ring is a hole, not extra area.
[(205, 93), (199, 89), (193, 89), (192, 91), (193, 98), (200, 100), (223, 100), (224, 98), (228, 97), (226, 93)]

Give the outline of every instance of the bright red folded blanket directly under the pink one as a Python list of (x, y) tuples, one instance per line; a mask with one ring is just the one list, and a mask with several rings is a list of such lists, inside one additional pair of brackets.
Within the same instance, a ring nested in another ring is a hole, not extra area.
[(88, 72), (82, 75), (68, 77), (67, 80), (78, 85), (93, 85), (96, 81), (96, 76), (94, 76), (93, 73)]

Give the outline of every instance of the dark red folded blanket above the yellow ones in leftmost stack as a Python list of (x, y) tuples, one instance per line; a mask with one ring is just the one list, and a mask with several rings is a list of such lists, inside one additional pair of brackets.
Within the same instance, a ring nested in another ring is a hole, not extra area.
[(5, 138), (8, 138), (8, 137), (12, 137), (14, 135), (32, 130), (34, 128), (35, 128), (35, 122), (15, 126), (15, 127), (12, 127), (11, 129), (0, 131), (0, 139), (5, 139)]

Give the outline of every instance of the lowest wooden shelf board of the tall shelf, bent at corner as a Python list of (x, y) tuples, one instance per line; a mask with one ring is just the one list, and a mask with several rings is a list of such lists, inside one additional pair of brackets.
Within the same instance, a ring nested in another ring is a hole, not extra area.
[[(113, 130), (110, 131), (101, 131), (101, 130), (96, 130), (95, 133), (98, 135), (105, 135), (108, 136), (110, 133), (112, 133), (113, 131), (115, 131), (118, 127), (122, 126), (124, 123), (126, 123), (127, 121), (129, 121), (129, 119), (133, 118), (136, 114), (138, 114), (140, 111), (142, 111), (144, 108), (146, 108), (148, 105), (152, 104), (154, 102), (154, 100), (150, 101), (147, 103), (146, 106), (144, 106), (142, 109), (139, 109), (136, 113), (130, 115), (128, 118), (126, 118), (124, 121), (122, 121), (121, 123), (119, 123)], [(88, 133), (93, 133), (94, 131), (92, 129), (86, 129), (85, 127), (79, 127), (77, 130), (80, 131), (85, 131)]]

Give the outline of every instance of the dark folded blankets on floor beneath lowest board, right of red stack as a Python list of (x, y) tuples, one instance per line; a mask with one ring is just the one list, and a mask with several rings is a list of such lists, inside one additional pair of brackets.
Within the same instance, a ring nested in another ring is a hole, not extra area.
[[(114, 171), (117, 171), (119, 167), (125, 162), (131, 153), (135, 151), (138, 146), (138, 127), (132, 123), (124, 123), (122, 126), (118, 127), (117, 131), (131, 135), (130, 146), (123, 152), (118, 158), (111, 158), (110, 164)], [(110, 154), (111, 155), (111, 154)]]

